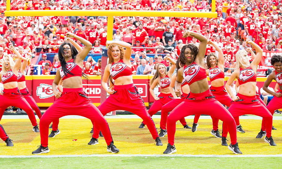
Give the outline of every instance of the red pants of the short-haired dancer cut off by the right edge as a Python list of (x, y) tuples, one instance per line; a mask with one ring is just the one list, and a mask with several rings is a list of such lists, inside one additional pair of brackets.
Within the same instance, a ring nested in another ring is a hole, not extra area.
[[(282, 92), (282, 90), (279, 89), (278, 92)], [(269, 112), (272, 114), (274, 114), (274, 111), (277, 109), (282, 108), (282, 97), (273, 97), (273, 99), (268, 103), (268, 105), (266, 106), (267, 110), (269, 110)], [(261, 123), (261, 129), (262, 131), (265, 131), (266, 129), (266, 121), (263, 118), (262, 123)]]

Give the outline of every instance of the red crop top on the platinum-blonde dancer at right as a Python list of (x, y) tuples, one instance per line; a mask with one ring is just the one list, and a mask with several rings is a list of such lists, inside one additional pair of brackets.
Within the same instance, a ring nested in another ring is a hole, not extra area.
[(247, 82), (256, 82), (256, 81), (257, 81), (257, 75), (253, 71), (252, 67), (248, 67), (246, 69), (240, 68), (240, 73), (238, 78), (239, 85), (245, 84)]

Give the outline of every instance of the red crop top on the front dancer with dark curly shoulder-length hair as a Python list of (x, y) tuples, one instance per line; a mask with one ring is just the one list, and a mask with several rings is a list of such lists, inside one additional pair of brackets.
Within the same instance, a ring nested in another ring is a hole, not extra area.
[(184, 66), (183, 78), (185, 79), (183, 85), (187, 83), (190, 86), (192, 83), (206, 78), (206, 70), (193, 62), (189, 66)]

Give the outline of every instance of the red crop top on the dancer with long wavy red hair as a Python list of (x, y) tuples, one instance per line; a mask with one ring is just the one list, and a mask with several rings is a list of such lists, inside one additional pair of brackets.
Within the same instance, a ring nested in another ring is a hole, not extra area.
[(118, 77), (131, 76), (132, 69), (120, 59), (117, 63), (112, 63), (110, 74), (113, 80), (116, 80)]

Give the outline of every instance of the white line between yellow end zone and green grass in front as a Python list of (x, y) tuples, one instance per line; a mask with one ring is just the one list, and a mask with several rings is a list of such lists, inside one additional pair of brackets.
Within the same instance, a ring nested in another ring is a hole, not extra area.
[(282, 157), (282, 154), (276, 155), (189, 155), (189, 154), (171, 154), (171, 155), (157, 155), (157, 154), (92, 154), (92, 155), (50, 155), (50, 156), (3, 156), (0, 158), (55, 158), (55, 157)]

